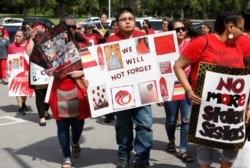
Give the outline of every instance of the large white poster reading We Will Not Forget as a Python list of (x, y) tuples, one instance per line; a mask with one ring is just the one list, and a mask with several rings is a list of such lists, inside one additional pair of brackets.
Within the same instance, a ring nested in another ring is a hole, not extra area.
[(175, 31), (81, 50), (92, 117), (185, 98), (173, 65), (179, 57)]

